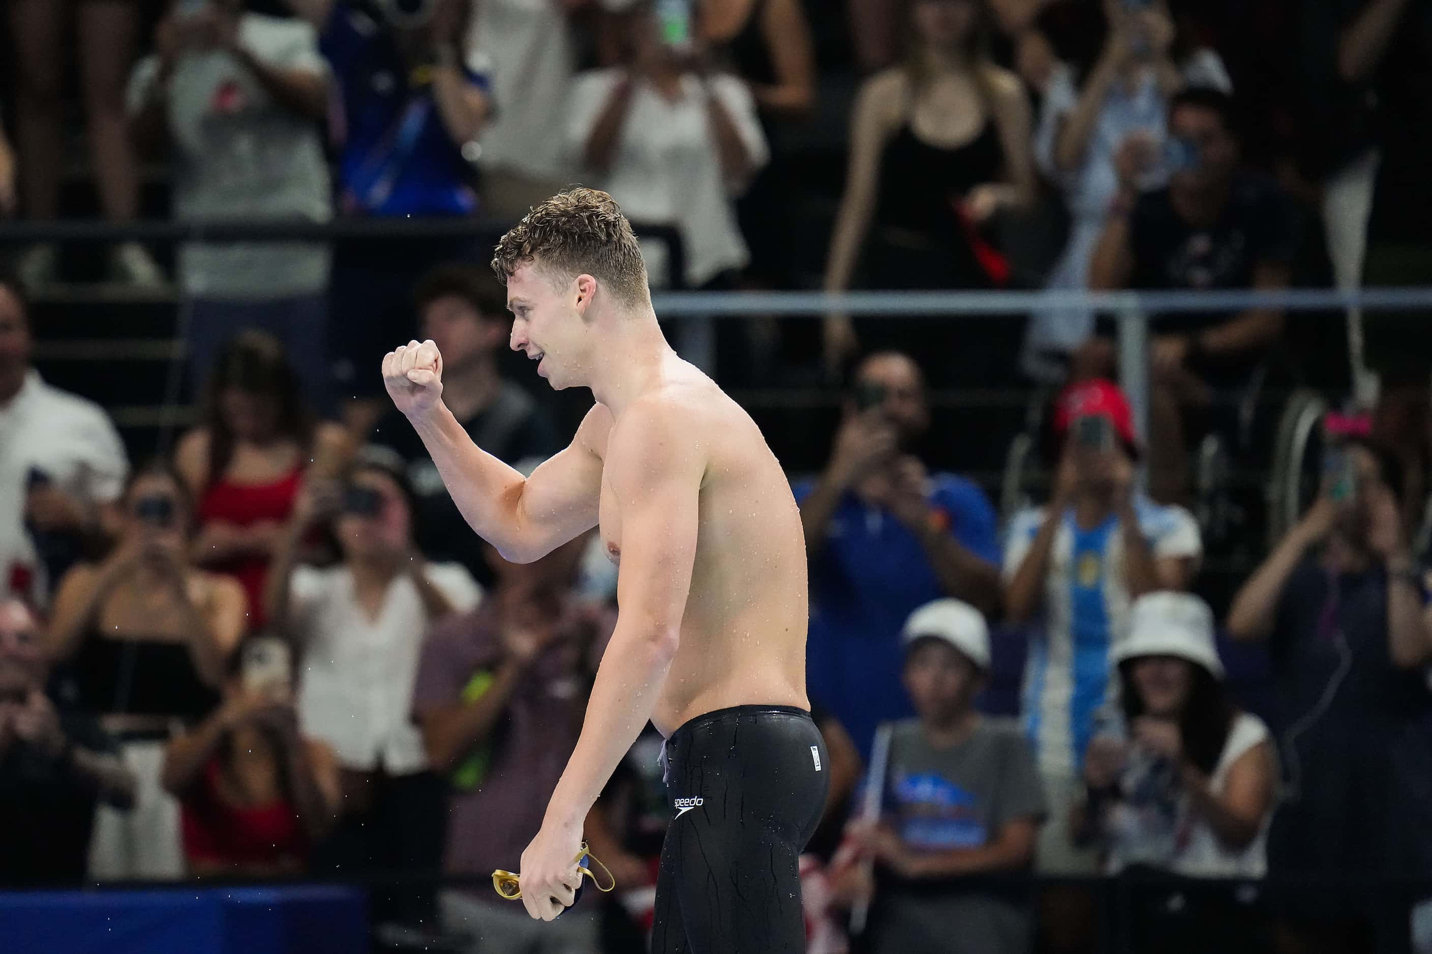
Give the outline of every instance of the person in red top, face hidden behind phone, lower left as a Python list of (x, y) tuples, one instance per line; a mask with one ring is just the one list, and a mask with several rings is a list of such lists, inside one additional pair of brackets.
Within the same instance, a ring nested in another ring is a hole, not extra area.
[(338, 759), (298, 731), (288, 644), (252, 638), (231, 659), (219, 708), (165, 752), (189, 874), (299, 874), (339, 811)]

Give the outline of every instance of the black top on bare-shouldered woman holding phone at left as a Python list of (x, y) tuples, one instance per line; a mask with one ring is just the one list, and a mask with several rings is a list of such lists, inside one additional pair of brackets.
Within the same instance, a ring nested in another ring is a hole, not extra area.
[(199, 719), (219, 702), (189, 646), (165, 639), (84, 635), (70, 664), (80, 705), (92, 712)]

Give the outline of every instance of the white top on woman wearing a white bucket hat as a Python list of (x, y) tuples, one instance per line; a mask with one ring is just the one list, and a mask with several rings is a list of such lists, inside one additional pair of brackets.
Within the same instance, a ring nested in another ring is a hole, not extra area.
[[(1209, 791), (1221, 795), (1229, 785), (1229, 771), (1249, 749), (1269, 739), (1263, 719), (1242, 712), (1229, 729), (1219, 754), (1219, 764), (1209, 777)], [(1131, 759), (1133, 761), (1133, 759)], [(1147, 790), (1147, 785), (1144, 787)], [(1130, 864), (1150, 864), (1191, 878), (1262, 878), (1267, 874), (1267, 828), (1273, 818), (1263, 815), (1257, 837), (1242, 851), (1230, 851), (1219, 841), (1209, 821), (1194, 811), (1189, 794), (1180, 788), (1167, 804), (1134, 805), (1118, 802), (1110, 818), (1108, 871), (1117, 874)]]

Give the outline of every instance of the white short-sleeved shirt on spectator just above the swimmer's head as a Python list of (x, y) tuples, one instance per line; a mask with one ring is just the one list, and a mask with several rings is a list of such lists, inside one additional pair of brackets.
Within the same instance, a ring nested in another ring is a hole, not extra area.
[[(567, 122), (567, 146), (573, 156), (581, 156), (591, 127), (624, 76), (624, 70), (611, 69), (577, 77)], [(716, 96), (730, 114), (750, 157), (750, 170), (765, 166), (770, 150), (746, 83), (729, 74), (713, 76), (706, 83), (684, 74), (676, 102), (669, 102), (644, 80), (636, 82), (611, 167), (589, 172), (586, 177), (611, 193), (633, 222), (670, 223), (680, 229), (686, 243), (686, 282), (693, 287), (722, 272), (743, 267), (750, 257), (733, 205), (748, 180), (730, 182), (722, 173), (707, 96)], [(663, 283), (666, 246), (643, 240), (642, 257), (652, 285)]]

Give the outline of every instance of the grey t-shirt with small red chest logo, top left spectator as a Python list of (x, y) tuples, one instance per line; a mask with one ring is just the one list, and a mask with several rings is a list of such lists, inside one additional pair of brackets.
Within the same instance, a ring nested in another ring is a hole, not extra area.
[[(328, 72), (318, 33), (301, 20), (245, 13), (239, 44), (274, 67)], [(132, 114), (158, 94), (158, 76), (153, 56), (135, 67), (127, 92)], [(236, 57), (223, 50), (188, 51), (175, 64), (168, 92), (178, 219), (326, 222), (332, 216), (319, 120), (276, 103)], [(295, 242), (186, 245), (179, 273), (185, 292), (205, 297), (309, 295), (328, 282), (328, 250)]]

